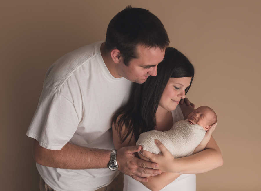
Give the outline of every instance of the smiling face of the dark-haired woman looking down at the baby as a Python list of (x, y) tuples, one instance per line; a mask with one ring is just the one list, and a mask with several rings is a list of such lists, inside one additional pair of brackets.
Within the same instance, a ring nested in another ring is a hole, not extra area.
[(190, 85), (191, 77), (169, 78), (160, 98), (159, 107), (168, 111), (175, 110), (181, 99), (184, 99), (186, 88)]

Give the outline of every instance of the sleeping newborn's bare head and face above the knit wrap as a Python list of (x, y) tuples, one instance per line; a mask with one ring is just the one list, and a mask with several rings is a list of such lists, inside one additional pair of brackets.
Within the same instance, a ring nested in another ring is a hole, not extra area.
[(209, 130), (214, 113), (206, 106), (201, 106), (191, 112), (188, 116), (190, 124), (198, 124), (204, 128), (205, 131)]

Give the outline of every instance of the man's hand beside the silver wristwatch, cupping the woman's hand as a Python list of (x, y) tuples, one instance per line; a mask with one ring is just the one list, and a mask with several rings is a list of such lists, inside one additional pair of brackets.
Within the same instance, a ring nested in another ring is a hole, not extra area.
[[(117, 163), (119, 171), (131, 176), (133, 179), (140, 182), (147, 182), (151, 176), (161, 174), (161, 170), (157, 163), (145, 161), (135, 156), (135, 153), (140, 151), (142, 146), (128, 146), (117, 150)], [(154, 169), (153, 169), (154, 168)]]

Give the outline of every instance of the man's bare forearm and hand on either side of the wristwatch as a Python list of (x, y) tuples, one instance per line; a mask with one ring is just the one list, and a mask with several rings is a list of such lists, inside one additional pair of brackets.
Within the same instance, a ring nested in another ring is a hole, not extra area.
[[(161, 171), (152, 169), (156, 163), (144, 161), (135, 156), (141, 146), (122, 147), (117, 150), (119, 171), (132, 176), (138, 181), (148, 181), (146, 177)], [(34, 143), (35, 161), (44, 166), (66, 169), (107, 168), (110, 161), (110, 150), (87, 148), (67, 143), (61, 150), (43, 148), (39, 142)]]

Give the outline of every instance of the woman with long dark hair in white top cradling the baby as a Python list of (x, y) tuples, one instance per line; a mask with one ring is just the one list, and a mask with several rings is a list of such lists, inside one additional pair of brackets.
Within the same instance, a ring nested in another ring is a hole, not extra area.
[[(185, 98), (193, 76), (194, 68), (186, 56), (175, 48), (167, 48), (164, 60), (158, 65), (157, 76), (150, 76), (143, 84), (134, 83), (128, 102), (113, 116), (115, 148), (133, 146), (141, 133), (154, 129), (168, 131), (175, 122), (186, 118), (193, 108), (180, 107), (179, 102)], [(209, 132), (211, 135), (212, 131)], [(209, 133), (207, 135), (210, 137)], [(161, 161), (168, 164), (168, 157), (163, 155), (163, 159), (157, 161), (159, 169), (164, 166)], [(164, 191), (195, 191), (195, 173), (217, 168), (222, 165), (223, 159), (218, 145), (211, 137), (204, 151), (175, 159), (175, 162), (177, 162), (175, 173), (173, 169), (168, 172), (164, 167), (165, 172), (149, 177), (148, 182), (140, 183), (124, 175), (124, 191), (161, 190), (162, 188)]]

